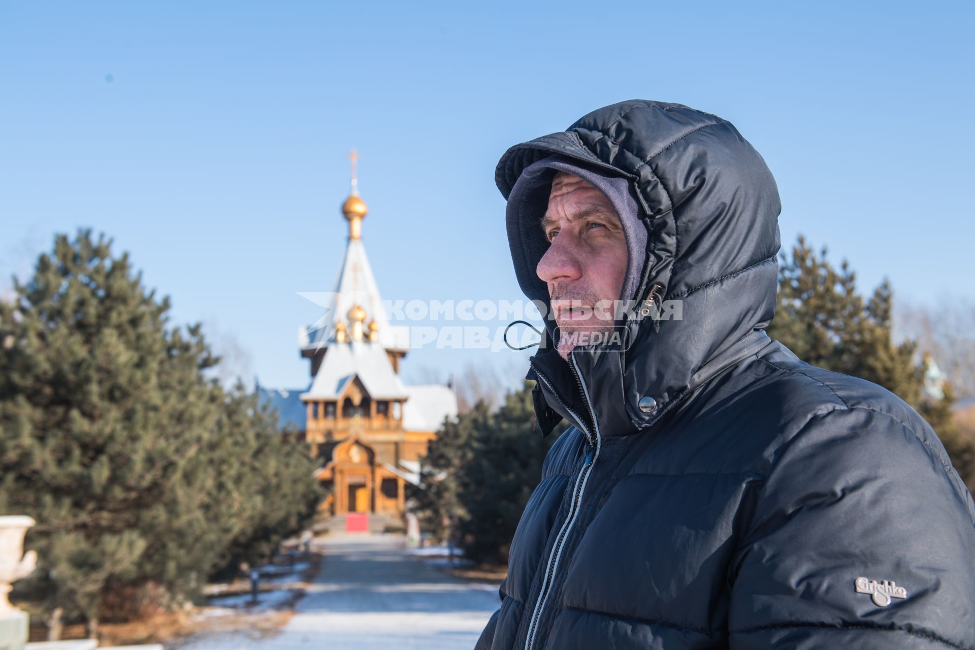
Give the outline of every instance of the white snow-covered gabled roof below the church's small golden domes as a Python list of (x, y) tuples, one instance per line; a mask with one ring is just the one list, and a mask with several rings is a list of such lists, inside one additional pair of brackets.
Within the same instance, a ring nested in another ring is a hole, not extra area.
[(385, 348), (378, 341), (331, 343), (304, 400), (337, 400), (353, 377), (366, 387), (373, 400), (408, 397), (400, 376), (393, 370)]

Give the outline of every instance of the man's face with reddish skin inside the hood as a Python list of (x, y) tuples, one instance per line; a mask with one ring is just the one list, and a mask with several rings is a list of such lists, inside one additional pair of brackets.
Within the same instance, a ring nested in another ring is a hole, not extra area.
[(626, 236), (603, 192), (565, 172), (552, 181), (541, 227), (551, 246), (536, 272), (548, 284), (560, 330), (559, 354), (568, 359), (572, 348), (585, 344), (577, 332), (612, 331), (612, 304), (626, 275)]

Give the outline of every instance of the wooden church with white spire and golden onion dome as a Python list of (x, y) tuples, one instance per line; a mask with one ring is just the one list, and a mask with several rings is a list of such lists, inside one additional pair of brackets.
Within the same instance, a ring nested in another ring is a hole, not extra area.
[(301, 356), (311, 364), (302, 390), (267, 389), (282, 426), (298, 430), (317, 476), (331, 487), (321, 508), (331, 515), (402, 517), (406, 485), (419, 482), (419, 458), (445, 417), (457, 413), (446, 385), (406, 385), (400, 365), (409, 327), (390, 325), (362, 240), (366, 203), (359, 196), (352, 155), (352, 191), (342, 204), (348, 244), (323, 319), (302, 328)]

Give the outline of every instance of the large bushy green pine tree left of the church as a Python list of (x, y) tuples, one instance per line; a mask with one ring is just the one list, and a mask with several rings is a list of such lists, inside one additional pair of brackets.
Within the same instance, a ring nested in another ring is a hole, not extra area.
[(0, 513), (37, 520), (21, 583), (93, 629), (191, 597), (249, 526), (291, 526), (303, 497), (269, 498), (270, 468), (315, 489), (310, 459), (268, 446), (255, 399), (208, 379), (200, 325), (171, 327), (169, 309), (84, 230), (0, 302)]

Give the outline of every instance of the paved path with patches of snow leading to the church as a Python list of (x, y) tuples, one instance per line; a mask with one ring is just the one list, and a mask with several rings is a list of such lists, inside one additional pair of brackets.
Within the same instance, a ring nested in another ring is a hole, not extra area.
[(263, 639), (214, 634), (187, 650), (470, 650), (500, 601), (410, 557), (401, 536), (339, 534), (316, 540), (318, 578), (281, 633)]

